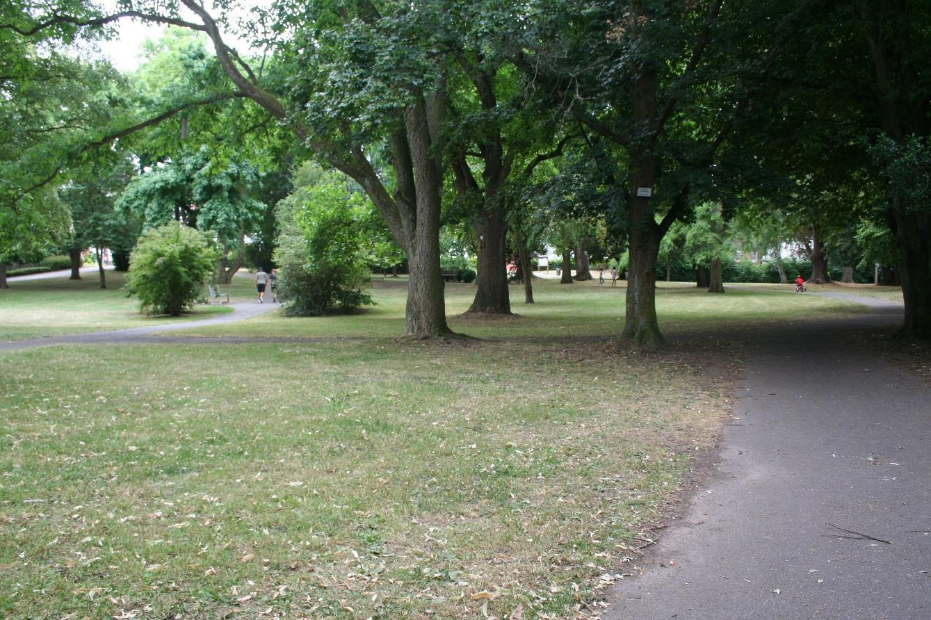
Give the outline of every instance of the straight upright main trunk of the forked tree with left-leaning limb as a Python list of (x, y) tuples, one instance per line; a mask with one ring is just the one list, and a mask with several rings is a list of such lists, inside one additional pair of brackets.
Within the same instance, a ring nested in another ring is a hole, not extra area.
[(441, 179), (431, 153), (426, 116), (424, 101), (418, 101), (404, 111), (416, 195), (416, 222), (407, 246), (411, 279), (408, 282), (404, 333), (419, 337), (452, 333), (446, 323), (446, 300), (439, 267)]

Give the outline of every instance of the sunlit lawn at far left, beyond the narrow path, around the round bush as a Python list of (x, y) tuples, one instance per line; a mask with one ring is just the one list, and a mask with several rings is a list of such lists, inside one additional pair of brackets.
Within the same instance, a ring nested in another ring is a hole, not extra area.
[(106, 277), (106, 290), (96, 274), (80, 280), (11, 278), (10, 288), (0, 290), (0, 341), (146, 327), (230, 312), (228, 307), (198, 305), (183, 317), (147, 317), (126, 296), (125, 274), (108, 271)]

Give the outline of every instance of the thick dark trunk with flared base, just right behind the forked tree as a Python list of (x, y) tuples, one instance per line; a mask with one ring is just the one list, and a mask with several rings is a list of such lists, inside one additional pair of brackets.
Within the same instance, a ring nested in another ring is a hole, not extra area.
[(475, 299), (466, 314), (511, 314), (505, 269), (507, 227), (504, 215), (504, 209), (493, 209), (486, 211), (482, 221), (476, 222), (475, 232), (483, 239), (484, 248), (479, 247)]

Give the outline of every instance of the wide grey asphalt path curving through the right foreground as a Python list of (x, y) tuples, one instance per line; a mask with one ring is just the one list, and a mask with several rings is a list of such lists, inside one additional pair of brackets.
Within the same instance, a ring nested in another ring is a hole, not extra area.
[(851, 342), (901, 304), (808, 294), (871, 312), (747, 334), (714, 474), (603, 620), (931, 618), (931, 385)]

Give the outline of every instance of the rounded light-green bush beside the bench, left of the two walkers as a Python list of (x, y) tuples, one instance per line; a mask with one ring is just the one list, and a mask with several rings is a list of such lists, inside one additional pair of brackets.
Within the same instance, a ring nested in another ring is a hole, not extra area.
[(129, 257), (127, 292), (150, 315), (178, 317), (213, 276), (219, 252), (193, 228), (169, 222), (146, 233)]

